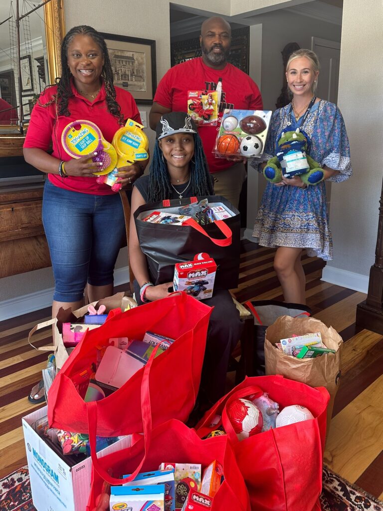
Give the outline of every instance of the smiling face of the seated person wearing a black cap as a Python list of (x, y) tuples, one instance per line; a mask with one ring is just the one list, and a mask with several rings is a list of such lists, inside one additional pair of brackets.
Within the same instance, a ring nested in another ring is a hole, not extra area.
[(194, 136), (190, 133), (175, 133), (161, 138), (158, 145), (167, 162), (171, 177), (180, 171), (188, 170), (189, 162), (194, 156)]

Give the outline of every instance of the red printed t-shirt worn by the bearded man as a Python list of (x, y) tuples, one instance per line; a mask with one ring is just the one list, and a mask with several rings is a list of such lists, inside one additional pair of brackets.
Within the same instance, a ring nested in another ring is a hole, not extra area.
[(211, 152), (216, 143), (224, 109), (263, 109), (256, 83), (232, 64), (226, 64), (217, 71), (198, 57), (171, 67), (159, 82), (154, 96), (154, 101), (165, 108), (171, 108), (175, 112), (187, 112), (187, 91), (216, 90), (219, 78), (222, 78), (222, 94), (218, 126), (200, 126), (198, 130), (210, 172), (219, 172), (233, 165), (232, 161), (216, 158)]

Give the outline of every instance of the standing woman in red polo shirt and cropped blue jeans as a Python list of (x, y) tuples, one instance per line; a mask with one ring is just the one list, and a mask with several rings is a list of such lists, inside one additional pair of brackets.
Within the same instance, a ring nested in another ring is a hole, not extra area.
[[(125, 233), (119, 195), (93, 174), (100, 164), (89, 156), (70, 158), (62, 131), (71, 121), (88, 120), (112, 142), (128, 118), (141, 122), (131, 94), (113, 85), (105, 40), (97, 31), (71, 29), (62, 41), (61, 65), (60, 81), (45, 89), (32, 111), (23, 150), (26, 161), (48, 177), (42, 217), (55, 277), (53, 317), (60, 307), (81, 307), (85, 286), (90, 301), (112, 294)], [(142, 161), (119, 169), (120, 182), (132, 183), (145, 166)]]

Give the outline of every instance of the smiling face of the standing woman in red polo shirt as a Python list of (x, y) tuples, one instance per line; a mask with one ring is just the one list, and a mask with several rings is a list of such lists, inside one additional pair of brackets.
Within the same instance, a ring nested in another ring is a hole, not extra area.
[(104, 65), (101, 48), (89, 35), (76, 35), (67, 49), (68, 66), (78, 90), (100, 87), (100, 77)]

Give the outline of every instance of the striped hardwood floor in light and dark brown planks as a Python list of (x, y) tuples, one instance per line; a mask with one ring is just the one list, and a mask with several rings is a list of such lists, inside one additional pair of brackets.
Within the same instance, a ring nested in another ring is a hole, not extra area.
[[(273, 270), (274, 250), (246, 240), (242, 243), (237, 299), (282, 300)], [(314, 317), (335, 328), (345, 342), (342, 381), (324, 461), (334, 472), (383, 499), (383, 336), (368, 330), (356, 332), (356, 305), (366, 295), (322, 282), (323, 266), (321, 260), (303, 257), (307, 305)], [(29, 403), (27, 396), (39, 381), (47, 357), (31, 348), (28, 333), (49, 316), (50, 309), (44, 309), (0, 322), (0, 477), (26, 463), (21, 417), (43, 406)], [(48, 344), (50, 333), (46, 329), (35, 334), (36, 345)]]

